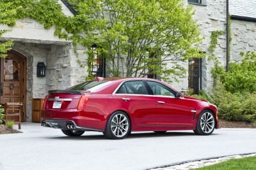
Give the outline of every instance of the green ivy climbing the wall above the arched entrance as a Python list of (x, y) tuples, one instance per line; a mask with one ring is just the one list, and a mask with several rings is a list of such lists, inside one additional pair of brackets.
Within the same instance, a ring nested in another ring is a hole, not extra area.
[[(67, 17), (61, 12), (61, 4), (55, 0), (26, 0), (0, 1), (1, 13), (9, 13), (9, 15), (1, 15), (0, 24), (13, 26), (19, 19), (26, 17), (33, 18), (44, 25), (45, 29), (51, 29), (55, 26), (54, 35), (66, 40), (72, 39), (74, 45), (77, 45), (77, 34), (81, 32), (78, 22), (83, 25), (83, 21), (79, 19), (79, 15), (75, 17)], [(12, 13), (10, 13), (12, 11)], [(3, 22), (4, 21), (4, 22)]]

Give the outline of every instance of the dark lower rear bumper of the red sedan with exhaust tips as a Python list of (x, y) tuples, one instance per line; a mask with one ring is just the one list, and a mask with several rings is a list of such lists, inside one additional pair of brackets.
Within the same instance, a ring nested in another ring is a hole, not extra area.
[(42, 118), (41, 125), (44, 127), (52, 127), (54, 129), (72, 130), (72, 131), (97, 131), (103, 132), (99, 129), (91, 129), (86, 127), (77, 126), (74, 120), (63, 120), (63, 119), (47, 119)]

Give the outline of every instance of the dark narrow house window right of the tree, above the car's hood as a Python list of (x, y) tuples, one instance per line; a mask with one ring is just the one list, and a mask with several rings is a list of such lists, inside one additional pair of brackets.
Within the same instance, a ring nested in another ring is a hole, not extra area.
[(188, 88), (198, 94), (201, 89), (202, 59), (191, 59), (188, 64)]

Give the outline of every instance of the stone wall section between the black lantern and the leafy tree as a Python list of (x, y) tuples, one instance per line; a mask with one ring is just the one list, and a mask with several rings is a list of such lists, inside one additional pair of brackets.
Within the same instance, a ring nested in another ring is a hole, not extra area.
[(71, 44), (51, 46), (51, 53), (46, 59), (46, 90), (67, 89), (85, 80), (87, 69), (80, 67), (77, 62), (79, 59), (86, 64), (87, 57), (84, 55), (84, 47), (77, 46), (76, 50), (77, 54)]

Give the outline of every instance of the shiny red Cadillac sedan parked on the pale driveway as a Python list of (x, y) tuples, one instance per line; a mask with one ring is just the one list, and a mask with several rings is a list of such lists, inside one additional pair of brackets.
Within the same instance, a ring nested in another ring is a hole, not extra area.
[(67, 136), (98, 131), (109, 139), (123, 139), (133, 131), (209, 135), (219, 122), (214, 104), (182, 96), (162, 81), (97, 78), (67, 90), (50, 90), (42, 126), (61, 129)]

